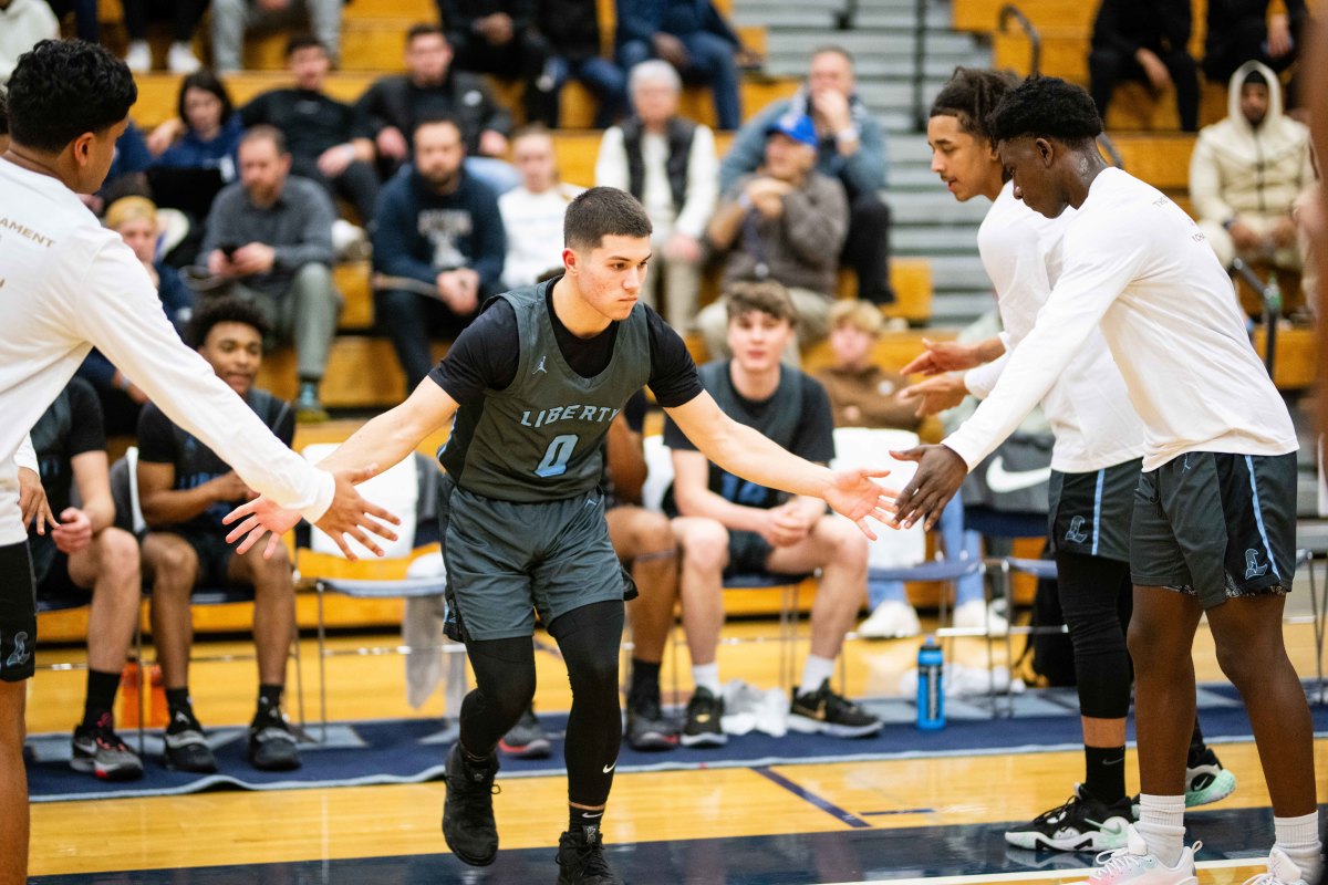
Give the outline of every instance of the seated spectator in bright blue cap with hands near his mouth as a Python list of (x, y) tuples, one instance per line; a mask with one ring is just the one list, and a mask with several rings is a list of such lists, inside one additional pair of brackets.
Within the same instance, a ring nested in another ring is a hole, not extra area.
[[(765, 163), (736, 180), (710, 219), (710, 244), (726, 253), (724, 288), (738, 280), (774, 280), (797, 309), (797, 342), (826, 337), (835, 271), (849, 227), (843, 186), (815, 171), (817, 129), (810, 117), (785, 114), (766, 126)], [(697, 325), (710, 353), (726, 353), (722, 299), (701, 310)]]

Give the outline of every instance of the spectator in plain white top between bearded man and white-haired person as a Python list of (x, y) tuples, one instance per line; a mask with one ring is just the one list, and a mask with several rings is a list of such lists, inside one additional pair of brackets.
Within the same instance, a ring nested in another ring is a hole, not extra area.
[(511, 159), (521, 187), (498, 198), (507, 259), (502, 287), (534, 285), (546, 271), (563, 267), (563, 216), (584, 187), (564, 184), (558, 175), (554, 139), (543, 126), (521, 130), (511, 139)]

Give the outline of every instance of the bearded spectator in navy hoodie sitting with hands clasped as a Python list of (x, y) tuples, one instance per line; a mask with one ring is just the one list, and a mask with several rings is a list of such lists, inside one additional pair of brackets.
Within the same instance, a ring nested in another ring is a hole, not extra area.
[(374, 309), (408, 390), (433, 368), (430, 333), (456, 336), (502, 289), (507, 243), (498, 198), (470, 174), (465, 157), (454, 118), (425, 119), (414, 131), (414, 166), (378, 195), (373, 269), (388, 281), (374, 293)]

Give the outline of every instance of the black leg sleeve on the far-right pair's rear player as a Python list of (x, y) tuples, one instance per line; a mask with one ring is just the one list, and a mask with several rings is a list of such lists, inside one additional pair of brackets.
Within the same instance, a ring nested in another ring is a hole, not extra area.
[(1057, 586), (1074, 646), (1080, 713), (1120, 719), (1130, 711), (1130, 654), (1121, 625), (1121, 597), (1130, 597), (1127, 563), (1060, 552)]

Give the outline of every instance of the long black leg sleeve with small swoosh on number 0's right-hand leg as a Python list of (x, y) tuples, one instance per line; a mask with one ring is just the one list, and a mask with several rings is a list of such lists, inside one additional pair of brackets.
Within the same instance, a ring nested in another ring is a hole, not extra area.
[(618, 653), (623, 644), (623, 604), (595, 602), (548, 625), (567, 662), (572, 711), (567, 718), (567, 799), (599, 807), (614, 785), (623, 743), (618, 702)]

